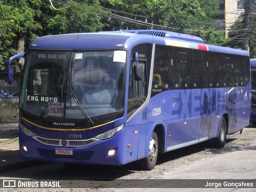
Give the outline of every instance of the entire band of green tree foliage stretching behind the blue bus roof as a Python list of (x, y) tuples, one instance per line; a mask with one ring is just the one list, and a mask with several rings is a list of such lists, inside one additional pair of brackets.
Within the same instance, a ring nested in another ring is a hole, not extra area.
[(0, 68), (4, 58), (49, 34), (153, 28), (190, 32), (220, 44), (224, 34), (206, 24), (217, 11), (218, 0), (0, 1)]

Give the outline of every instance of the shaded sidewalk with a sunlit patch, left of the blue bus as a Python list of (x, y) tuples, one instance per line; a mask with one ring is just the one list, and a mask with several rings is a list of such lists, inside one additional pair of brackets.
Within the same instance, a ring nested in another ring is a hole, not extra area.
[(20, 158), (18, 123), (0, 124), (0, 172), (32, 164)]

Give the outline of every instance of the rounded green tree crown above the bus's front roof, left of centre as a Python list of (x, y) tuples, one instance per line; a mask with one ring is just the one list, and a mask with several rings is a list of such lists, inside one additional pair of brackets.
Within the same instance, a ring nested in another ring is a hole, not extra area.
[(46, 28), (51, 34), (101, 31), (104, 26), (108, 26), (109, 17), (108, 11), (98, 6), (97, 2), (68, 2), (59, 6)]

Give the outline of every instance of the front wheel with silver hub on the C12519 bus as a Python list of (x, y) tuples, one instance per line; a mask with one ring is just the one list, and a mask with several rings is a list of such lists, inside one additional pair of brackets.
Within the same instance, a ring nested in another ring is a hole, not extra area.
[(150, 139), (148, 157), (138, 161), (140, 168), (148, 171), (154, 169), (154, 167), (156, 166), (157, 156), (158, 156), (158, 138), (157, 138), (157, 134), (153, 132)]

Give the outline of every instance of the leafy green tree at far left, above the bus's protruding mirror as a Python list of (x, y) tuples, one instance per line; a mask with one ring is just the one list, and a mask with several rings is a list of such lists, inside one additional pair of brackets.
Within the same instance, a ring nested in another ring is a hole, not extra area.
[[(0, 2), (2, 59), (24, 52), (26, 42), (30, 43), (38, 36), (42, 26), (36, 20), (40, 17), (41, 3), (40, 0), (6, 0), (5, 4)], [(1, 58), (0, 62), (3, 64)], [(21, 70), (23, 65), (24, 60), (20, 59), (18, 66)]]

